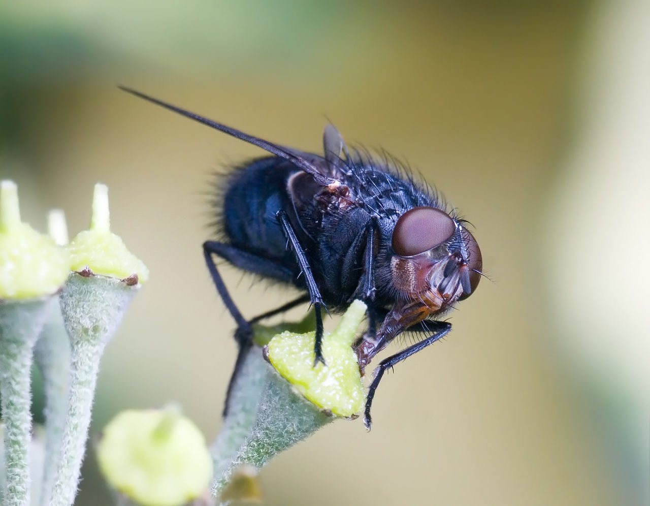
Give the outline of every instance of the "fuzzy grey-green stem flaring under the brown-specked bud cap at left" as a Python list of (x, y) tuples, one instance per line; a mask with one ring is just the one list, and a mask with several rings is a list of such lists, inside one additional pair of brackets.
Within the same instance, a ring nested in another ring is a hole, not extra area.
[(60, 295), (70, 336), (71, 373), (68, 416), (50, 506), (71, 506), (77, 494), (99, 360), (135, 292), (135, 286), (114, 278), (72, 273)]

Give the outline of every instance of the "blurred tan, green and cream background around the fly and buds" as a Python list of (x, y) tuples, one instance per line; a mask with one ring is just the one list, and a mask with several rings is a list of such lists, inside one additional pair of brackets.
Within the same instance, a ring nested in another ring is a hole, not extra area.
[[(43, 230), (62, 207), (75, 233), (107, 183), (114, 231), (151, 270), (92, 433), (170, 400), (218, 432), (234, 325), (200, 246), (214, 171), (262, 154), (119, 83), (303, 150), (331, 120), (475, 226), (491, 281), (452, 335), (383, 381), (371, 433), (335, 423), (274, 460), (267, 504), (647, 500), (649, 15), (633, 0), (1, 4), (0, 176), (23, 217)], [(248, 315), (293, 295), (226, 278)], [(92, 450), (84, 473), (78, 504), (110, 504)]]

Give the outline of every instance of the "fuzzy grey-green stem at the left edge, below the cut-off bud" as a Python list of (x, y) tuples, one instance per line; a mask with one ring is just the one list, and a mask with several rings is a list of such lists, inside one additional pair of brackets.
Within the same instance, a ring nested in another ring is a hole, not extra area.
[(29, 505), (32, 351), (46, 314), (44, 299), (0, 302), (0, 410), (5, 433), (5, 506)]

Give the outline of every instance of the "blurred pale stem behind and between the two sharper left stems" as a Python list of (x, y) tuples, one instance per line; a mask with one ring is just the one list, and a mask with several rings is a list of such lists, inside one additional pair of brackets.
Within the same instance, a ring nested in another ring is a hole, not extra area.
[(34, 359), (43, 375), (45, 390), (45, 462), (40, 492), (43, 504), (48, 503), (54, 485), (68, 414), (70, 381), (70, 340), (63, 326), (59, 297), (49, 301), (49, 306), (47, 321), (34, 348)]

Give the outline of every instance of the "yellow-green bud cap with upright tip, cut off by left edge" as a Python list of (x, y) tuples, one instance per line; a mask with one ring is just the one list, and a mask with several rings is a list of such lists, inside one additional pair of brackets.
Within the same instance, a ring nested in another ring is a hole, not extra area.
[(18, 188), (0, 182), (0, 299), (33, 299), (55, 293), (70, 274), (64, 248), (20, 220)]

